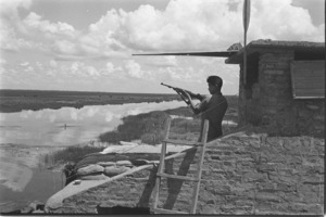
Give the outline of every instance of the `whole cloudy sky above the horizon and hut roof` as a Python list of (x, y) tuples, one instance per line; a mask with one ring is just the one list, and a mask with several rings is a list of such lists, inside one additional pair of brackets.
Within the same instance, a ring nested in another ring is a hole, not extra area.
[[(243, 44), (243, 0), (0, 0), (0, 89), (238, 94), (224, 58), (135, 53)], [(325, 41), (324, 0), (251, 0), (248, 39)]]

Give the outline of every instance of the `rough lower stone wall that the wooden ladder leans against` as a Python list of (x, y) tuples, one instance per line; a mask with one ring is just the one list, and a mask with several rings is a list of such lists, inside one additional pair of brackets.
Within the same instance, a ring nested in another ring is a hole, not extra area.
[[(324, 140), (229, 137), (208, 144), (199, 214), (323, 214)], [(195, 176), (199, 151), (166, 162), (168, 174)], [(192, 161), (193, 159), (193, 161)], [(152, 207), (156, 167), (71, 196), (55, 213)], [(160, 207), (188, 212), (192, 182), (162, 178)]]

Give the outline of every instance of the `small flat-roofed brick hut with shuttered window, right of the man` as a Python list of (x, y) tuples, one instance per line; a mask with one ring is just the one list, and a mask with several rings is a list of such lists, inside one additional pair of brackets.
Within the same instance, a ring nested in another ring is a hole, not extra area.
[(256, 40), (226, 59), (240, 65), (239, 124), (265, 127), (268, 135), (325, 132), (325, 43)]

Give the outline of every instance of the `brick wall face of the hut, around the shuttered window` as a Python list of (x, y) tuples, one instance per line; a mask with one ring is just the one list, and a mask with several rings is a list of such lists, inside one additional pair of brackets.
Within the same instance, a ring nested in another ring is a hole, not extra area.
[[(249, 77), (249, 84), (243, 85), (243, 73), (240, 73), (240, 125), (264, 126), (272, 136), (324, 137), (324, 99), (292, 98), (290, 63), (293, 60), (292, 51), (264, 51), (259, 56), (255, 84), (250, 84)], [(248, 75), (254, 74), (254, 69), (249, 64)]]

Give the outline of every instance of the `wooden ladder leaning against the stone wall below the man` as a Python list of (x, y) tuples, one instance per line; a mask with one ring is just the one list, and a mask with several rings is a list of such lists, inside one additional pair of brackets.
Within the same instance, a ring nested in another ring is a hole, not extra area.
[[(200, 189), (200, 181), (201, 181), (201, 174), (202, 174), (202, 163), (204, 159), (204, 152), (205, 152), (205, 144), (208, 139), (208, 131), (209, 131), (209, 120), (204, 120), (203, 130), (202, 130), (202, 137), (200, 142), (189, 142), (189, 141), (183, 141), (183, 140), (172, 140), (168, 139), (170, 135), (170, 125), (171, 120), (168, 119), (167, 123), (167, 131), (166, 137), (162, 141), (162, 150), (160, 155), (160, 165), (156, 174), (156, 180), (155, 180), (155, 189), (154, 189), (154, 203), (153, 203), (153, 212), (155, 214), (196, 214), (197, 208), (197, 202), (198, 202), (198, 194)], [(166, 144), (178, 144), (178, 145), (190, 145), (190, 146), (201, 146), (200, 154), (199, 154), (199, 161), (197, 163), (197, 171), (196, 177), (188, 177), (188, 176), (177, 176), (177, 175), (171, 175), (164, 173), (164, 161), (170, 158), (165, 158), (166, 154)], [(192, 191), (192, 197), (191, 197), (191, 206), (189, 213), (185, 212), (178, 212), (178, 210), (172, 210), (172, 209), (165, 209), (165, 208), (158, 208), (159, 197), (160, 197), (160, 190), (161, 190), (161, 179), (162, 178), (173, 178), (173, 179), (180, 179), (180, 180), (187, 180), (195, 182), (193, 191)]]

